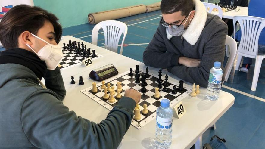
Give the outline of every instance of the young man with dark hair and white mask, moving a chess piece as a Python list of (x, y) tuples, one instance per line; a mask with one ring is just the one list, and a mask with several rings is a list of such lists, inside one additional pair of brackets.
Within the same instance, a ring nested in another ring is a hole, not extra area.
[(57, 67), (62, 58), (57, 21), (39, 7), (17, 5), (0, 23), (7, 49), (0, 53), (0, 148), (117, 148), (141, 94), (126, 90), (99, 124), (69, 111)]

